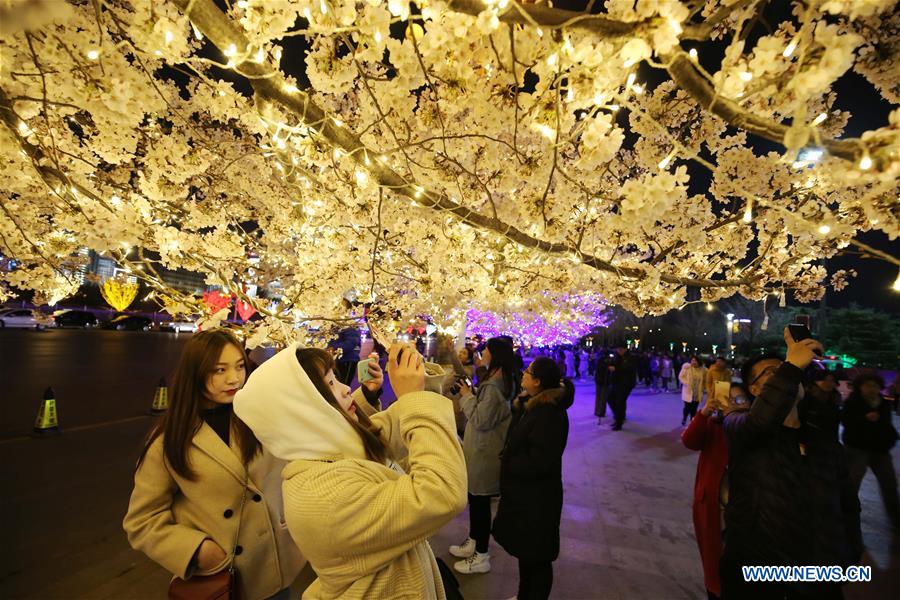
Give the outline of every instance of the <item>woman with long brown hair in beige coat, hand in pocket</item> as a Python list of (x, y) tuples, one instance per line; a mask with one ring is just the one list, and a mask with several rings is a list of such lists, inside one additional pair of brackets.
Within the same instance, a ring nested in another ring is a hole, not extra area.
[(304, 561), (282, 516), (284, 463), (232, 410), (246, 364), (227, 330), (188, 340), (169, 409), (138, 460), (123, 526), (133, 548), (176, 577), (233, 565), (241, 598), (287, 598)]

